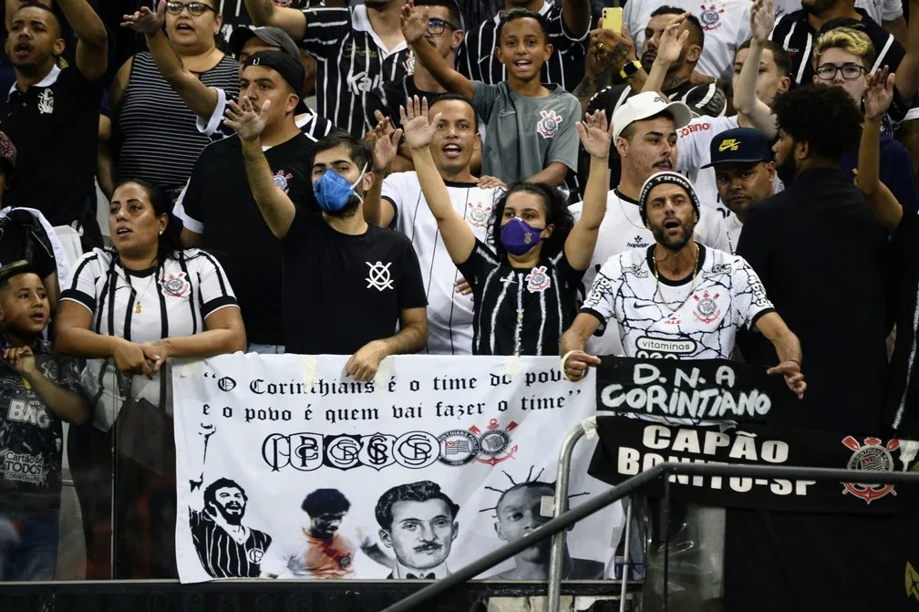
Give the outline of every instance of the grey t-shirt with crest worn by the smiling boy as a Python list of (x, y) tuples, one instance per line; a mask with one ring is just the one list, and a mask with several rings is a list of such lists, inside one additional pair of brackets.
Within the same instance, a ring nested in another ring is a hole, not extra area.
[(533, 176), (553, 162), (577, 171), (580, 119), (577, 98), (559, 85), (545, 85), (549, 96), (520, 96), (507, 83), (475, 81), (472, 106), (485, 123), (482, 175), (497, 176), (508, 185)]

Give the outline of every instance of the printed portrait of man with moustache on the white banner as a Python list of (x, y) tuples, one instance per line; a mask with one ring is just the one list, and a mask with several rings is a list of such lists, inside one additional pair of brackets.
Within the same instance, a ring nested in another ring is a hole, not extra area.
[(459, 533), (457, 514), (437, 482), (400, 484), (380, 495), (376, 516), (380, 540), (395, 553), (386, 578), (437, 580), (450, 574), (447, 559)]

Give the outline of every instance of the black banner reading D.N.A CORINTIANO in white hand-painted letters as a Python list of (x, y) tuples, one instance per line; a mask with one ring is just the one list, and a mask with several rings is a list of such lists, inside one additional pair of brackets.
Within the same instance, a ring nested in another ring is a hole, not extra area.
[(799, 406), (781, 376), (724, 359), (604, 357), (596, 368), (597, 410), (774, 424)]

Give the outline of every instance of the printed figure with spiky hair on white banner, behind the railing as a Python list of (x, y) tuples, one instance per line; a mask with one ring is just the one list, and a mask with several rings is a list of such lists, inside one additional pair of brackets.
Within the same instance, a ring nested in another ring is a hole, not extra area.
[[(485, 487), (489, 491), (501, 493), (498, 503), (494, 508), (485, 508), (482, 512), (494, 510), (494, 532), (498, 538), (507, 543), (516, 542), (527, 536), (531, 531), (542, 527), (550, 521), (552, 516), (542, 514), (542, 498), (555, 497), (555, 483), (539, 480), (542, 470), (533, 478), (533, 469), (530, 468), (527, 480), (515, 482), (504, 472), (507, 480), (511, 482), (508, 489), (501, 490), (494, 487)], [(577, 493), (570, 495), (586, 495)], [(514, 556), (516, 567), (513, 570), (500, 572), (489, 576), (492, 580), (546, 580), (549, 577), (549, 561), (552, 549), (552, 540), (547, 538), (534, 544)], [(600, 561), (589, 559), (576, 559), (571, 556), (568, 545), (565, 544), (564, 564), (562, 566), (562, 579), (565, 580), (602, 580), (604, 564)]]

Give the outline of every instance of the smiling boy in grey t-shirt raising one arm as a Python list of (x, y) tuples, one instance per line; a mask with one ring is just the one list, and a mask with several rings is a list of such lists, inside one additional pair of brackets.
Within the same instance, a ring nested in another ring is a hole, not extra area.
[(403, 6), (403, 36), (417, 61), (448, 92), (469, 100), (485, 122), (482, 175), (508, 185), (517, 181), (560, 187), (577, 171), (581, 119), (577, 98), (559, 85), (542, 84), (539, 74), (552, 54), (545, 17), (526, 8), (506, 11), (498, 26), (498, 61), (507, 80), (497, 85), (470, 81), (453, 70), (425, 40), (428, 9)]

